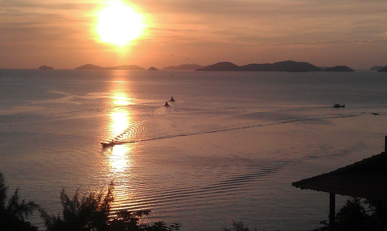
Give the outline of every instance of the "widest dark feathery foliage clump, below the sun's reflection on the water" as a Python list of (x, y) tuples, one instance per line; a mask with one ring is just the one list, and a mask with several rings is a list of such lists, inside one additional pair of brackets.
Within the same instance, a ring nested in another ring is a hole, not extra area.
[(91, 192), (80, 197), (77, 190), (70, 197), (62, 189), (60, 193), (63, 207), (62, 215), (49, 215), (44, 209), (39, 209), (45, 220), (47, 231), (174, 231), (180, 229), (179, 223), (166, 226), (163, 221), (149, 226), (140, 223), (140, 218), (149, 216), (151, 210), (118, 211), (110, 213), (113, 202), (113, 184), (106, 192)]

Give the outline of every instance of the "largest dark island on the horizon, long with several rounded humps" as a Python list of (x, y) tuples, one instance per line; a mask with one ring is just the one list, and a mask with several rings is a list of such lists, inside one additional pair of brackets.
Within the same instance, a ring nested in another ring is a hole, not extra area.
[(322, 71), (317, 66), (306, 62), (282, 61), (277, 63), (248, 64), (238, 66), (230, 62), (215, 63), (197, 71), (288, 71), (288, 72), (307, 72)]

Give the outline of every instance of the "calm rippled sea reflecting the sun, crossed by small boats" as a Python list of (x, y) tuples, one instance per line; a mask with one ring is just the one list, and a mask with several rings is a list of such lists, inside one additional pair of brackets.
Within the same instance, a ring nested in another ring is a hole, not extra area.
[[(151, 209), (146, 221), (183, 230), (233, 220), (317, 228), (329, 194), (291, 182), (384, 150), (386, 81), (377, 72), (0, 70), (0, 172), (9, 194), (19, 186), (55, 214), (62, 187), (114, 182), (114, 210)], [(122, 144), (101, 148), (110, 140)], [(338, 210), (346, 197), (336, 200)], [(29, 220), (44, 229), (38, 214)]]

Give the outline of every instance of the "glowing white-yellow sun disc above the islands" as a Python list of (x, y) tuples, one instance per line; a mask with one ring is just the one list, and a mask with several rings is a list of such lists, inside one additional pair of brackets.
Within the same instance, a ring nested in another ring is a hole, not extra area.
[(102, 42), (124, 46), (141, 35), (142, 16), (127, 4), (114, 1), (98, 13), (96, 31)]

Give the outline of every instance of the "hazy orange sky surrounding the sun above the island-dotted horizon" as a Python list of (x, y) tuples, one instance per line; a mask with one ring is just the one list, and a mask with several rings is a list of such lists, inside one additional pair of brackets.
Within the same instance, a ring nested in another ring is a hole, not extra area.
[(96, 34), (98, 12), (110, 2), (0, 0), (0, 68), (387, 65), (386, 0), (122, 0), (146, 25), (125, 47)]

